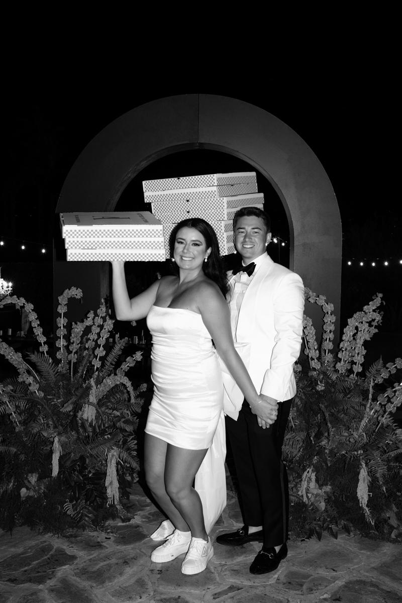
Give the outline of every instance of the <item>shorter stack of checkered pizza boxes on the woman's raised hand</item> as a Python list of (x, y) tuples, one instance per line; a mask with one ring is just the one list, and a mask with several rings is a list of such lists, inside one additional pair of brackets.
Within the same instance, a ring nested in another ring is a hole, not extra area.
[(162, 222), (150, 212), (60, 213), (67, 260), (165, 260)]

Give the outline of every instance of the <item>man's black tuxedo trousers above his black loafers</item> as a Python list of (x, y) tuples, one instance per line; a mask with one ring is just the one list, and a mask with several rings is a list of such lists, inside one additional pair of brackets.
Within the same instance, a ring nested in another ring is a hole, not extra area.
[(226, 429), (242, 496), (243, 522), (263, 527), (264, 546), (286, 542), (289, 523), (289, 487), (282, 445), (292, 400), (278, 404), (275, 423), (263, 429), (243, 402), (239, 418), (226, 417)]

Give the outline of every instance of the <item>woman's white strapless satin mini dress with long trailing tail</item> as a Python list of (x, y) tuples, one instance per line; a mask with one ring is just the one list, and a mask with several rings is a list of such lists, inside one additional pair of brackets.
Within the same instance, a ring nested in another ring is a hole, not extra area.
[(189, 450), (208, 449), (195, 476), (210, 531), (226, 505), (224, 387), (211, 336), (201, 314), (152, 306), (154, 396), (145, 431)]

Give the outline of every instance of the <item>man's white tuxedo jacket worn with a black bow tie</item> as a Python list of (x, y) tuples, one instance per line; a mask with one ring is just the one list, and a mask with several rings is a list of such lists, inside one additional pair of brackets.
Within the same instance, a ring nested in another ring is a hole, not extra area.
[(256, 390), (280, 402), (296, 393), (293, 365), (300, 355), (303, 310), (300, 276), (267, 254), (244, 294), (234, 339), (250, 343), (247, 368)]

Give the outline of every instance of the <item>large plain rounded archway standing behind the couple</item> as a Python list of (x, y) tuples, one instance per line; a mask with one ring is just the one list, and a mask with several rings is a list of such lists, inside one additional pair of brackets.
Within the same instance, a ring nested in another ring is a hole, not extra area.
[[(272, 183), (289, 221), (290, 268), (313, 291), (341, 303), (342, 230), (330, 180), (309, 146), (280, 119), (227, 96), (169, 96), (125, 113), (84, 148), (61, 189), (57, 212), (113, 210), (128, 182), (169, 153), (204, 147), (253, 165)], [(55, 254), (54, 288), (83, 289), (85, 307), (107, 292), (104, 262), (66, 262)], [(306, 308), (317, 330), (322, 314)], [(75, 320), (75, 319), (74, 319)]]

